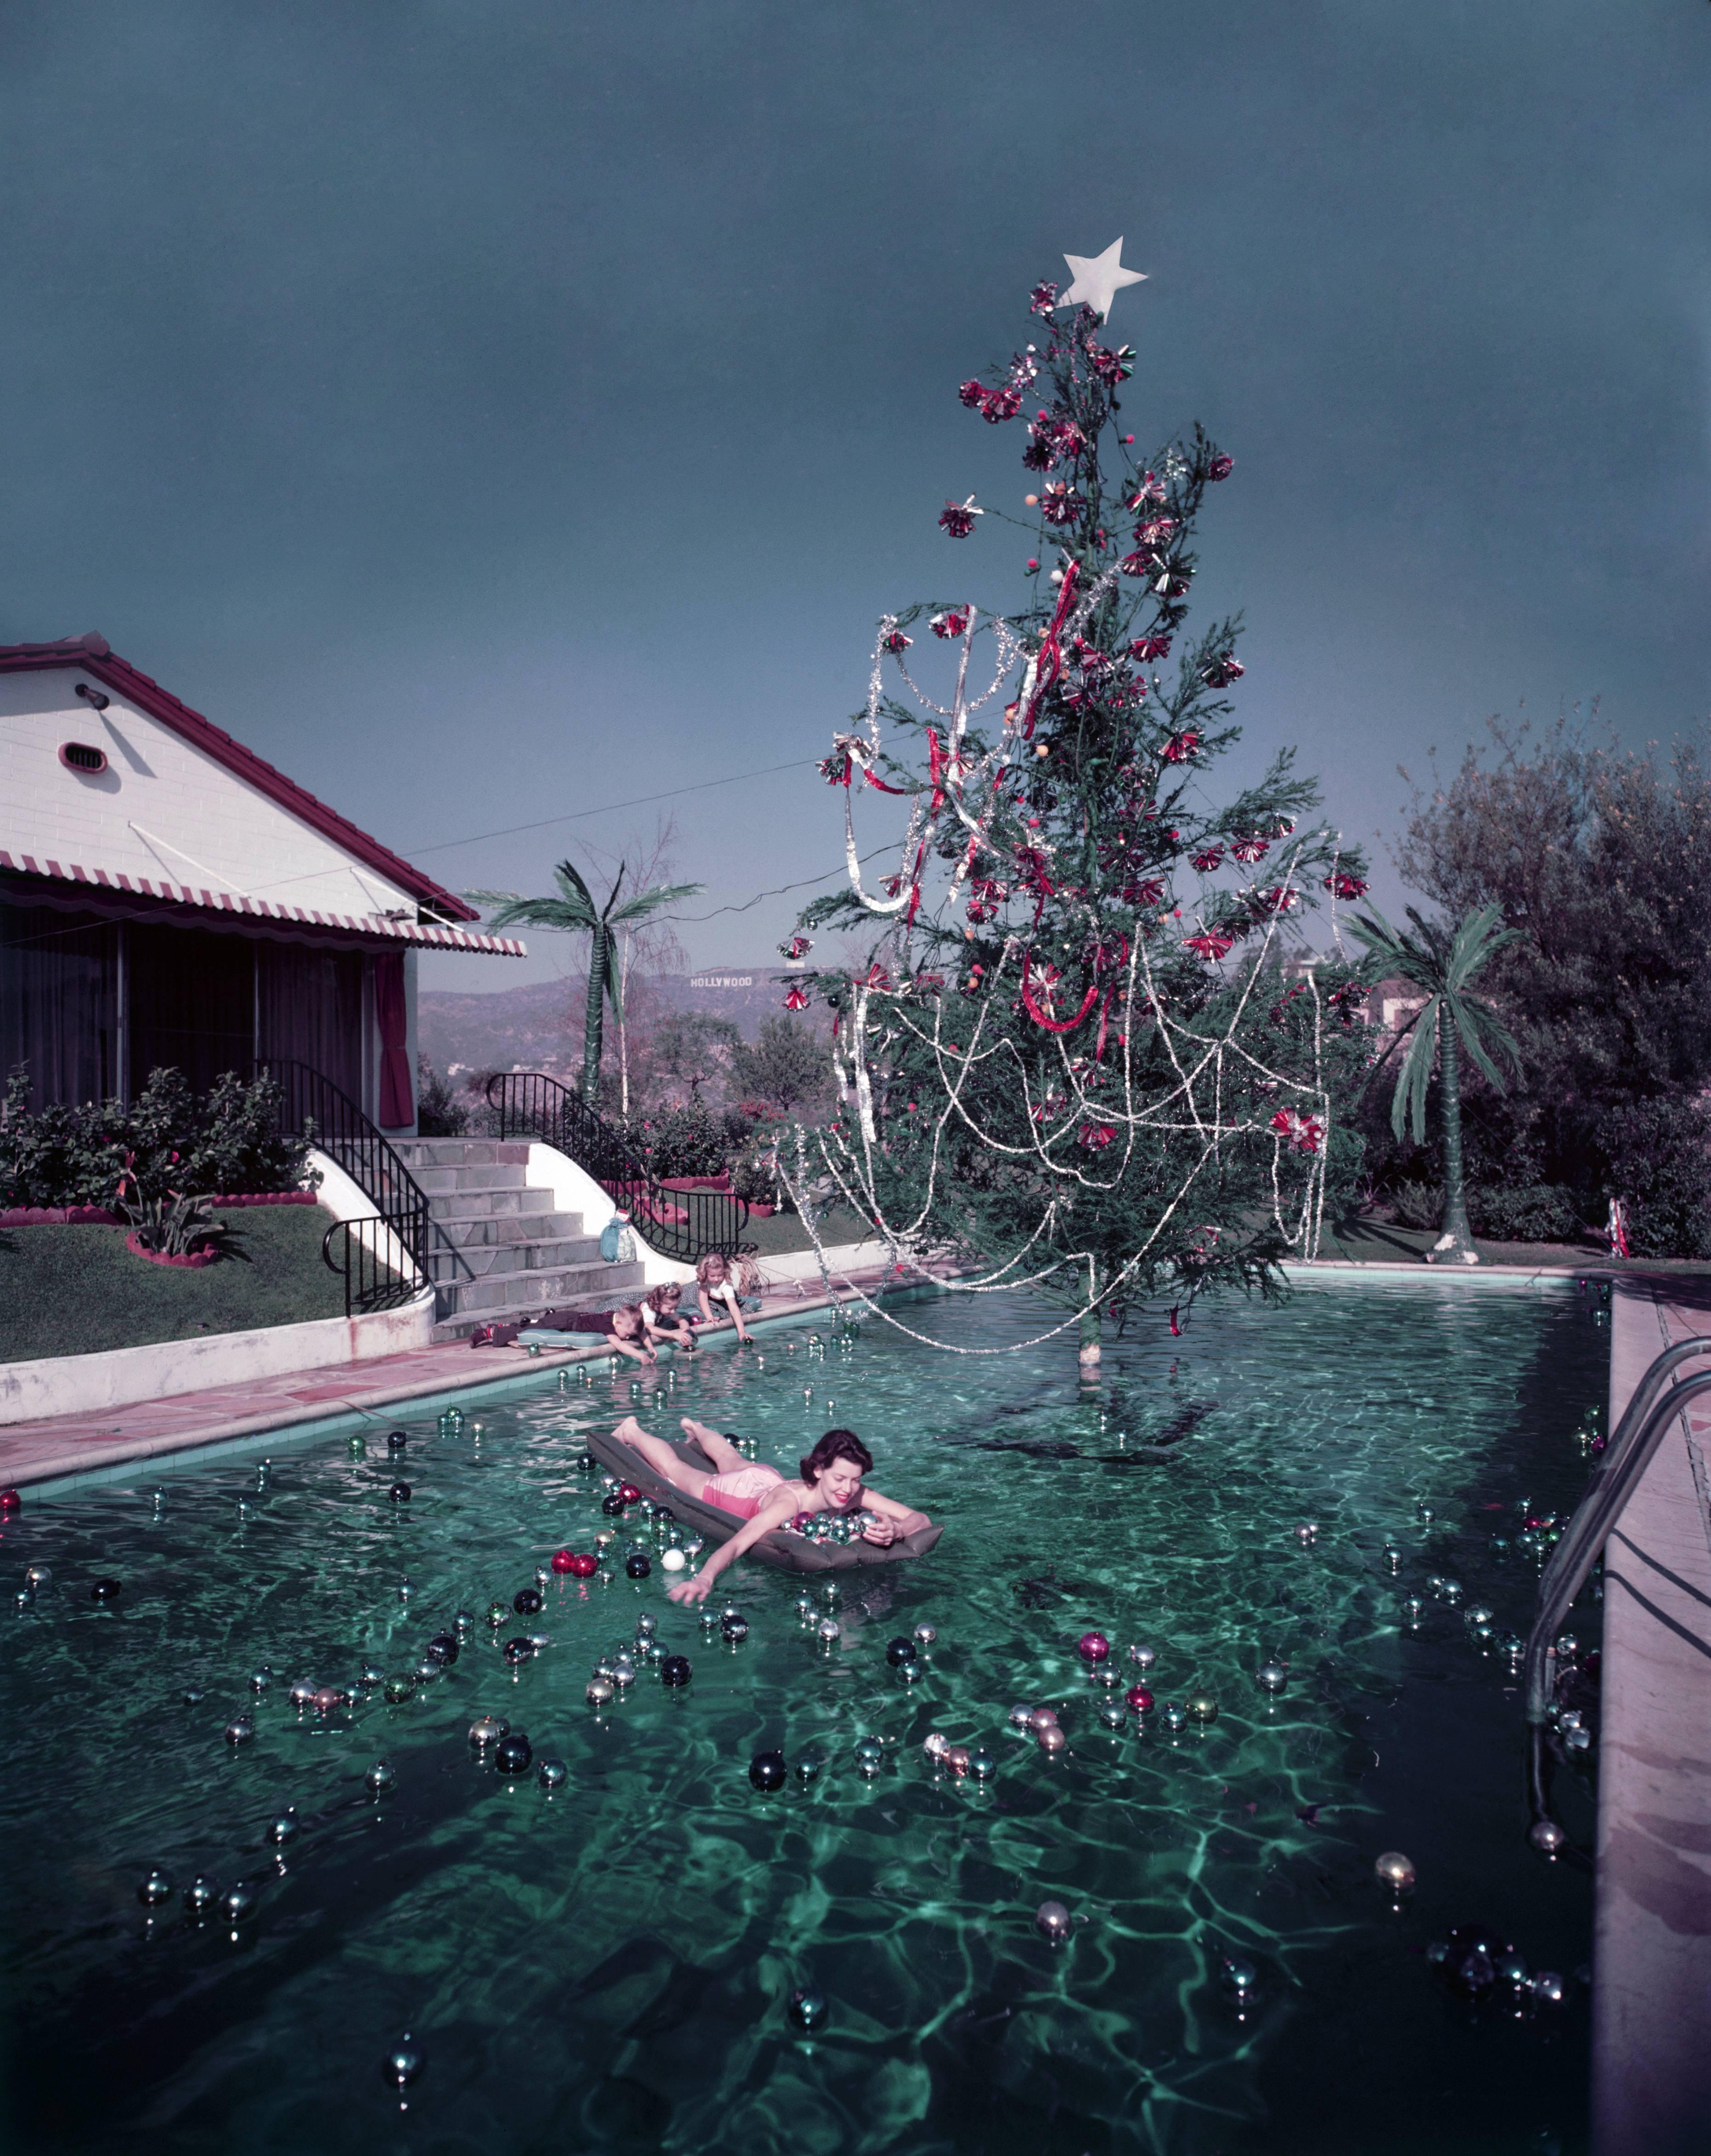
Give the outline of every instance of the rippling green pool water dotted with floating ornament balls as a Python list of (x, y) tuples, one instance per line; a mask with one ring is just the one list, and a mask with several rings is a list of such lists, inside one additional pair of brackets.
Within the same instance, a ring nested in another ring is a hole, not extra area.
[[(1011, 1296), (899, 1317), (965, 1350), (1052, 1322)], [(679, 1363), (638, 1412), (748, 1432), (780, 1466), (849, 1423), (875, 1485), (948, 1522), (920, 1563), (836, 1576), (830, 1649), (795, 1611), (815, 1583), (726, 1574), (720, 1604), (750, 1619), (726, 1645), (655, 1563), (554, 1580), (539, 1619), (500, 1632), (478, 1621), (403, 1705), (289, 1705), (297, 1677), (412, 1669), (455, 1611), (481, 1619), (560, 1544), (593, 1546), (603, 1492), (580, 1434), (631, 1410), (627, 1365), (465, 1399), (481, 1436), (403, 1419), (407, 1505), (375, 1423), (362, 1455), (332, 1432), (272, 1442), (267, 1473), (144, 1466), (6, 1526), (13, 1583), (54, 1572), (0, 1669), (6, 2150), (1584, 2145), (1586, 1861), (1528, 1848), (1502, 1660), (1455, 1606), (1427, 1598), (1411, 1632), (1401, 1606), (1452, 1574), (1463, 1608), (1526, 1630), (1536, 1567), (1489, 1537), (1517, 1501), (1567, 1509), (1584, 1483), (1575, 1434), (1608, 1367), (1588, 1302), (1338, 1283), (1284, 1309), (1202, 1304), (1183, 1339), (1149, 1324), (1108, 1350), (1099, 1401), (1077, 1397), (1065, 1337), (946, 1354), (873, 1317), (849, 1345), (819, 1326), (819, 1350), (808, 1326), (769, 1328)], [(97, 1604), (103, 1574), (123, 1593)], [(672, 1692), (644, 1667), (595, 1712), (590, 1667), (642, 1611), (694, 1677)], [(907, 1686), (886, 1641), (922, 1621), (937, 1643)], [(550, 1645), (509, 1669), (496, 1643), (532, 1626)], [(1075, 1654), (1088, 1628), (1118, 1656), (1155, 1645), (1159, 1703), (1202, 1688), (1218, 1720), (1105, 1731), (1112, 1695)], [(1597, 1611), (1575, 1630), (1592, 1639)], [(1289, 1686), (1267, 1699), (1254, 1671), (1274, 1656)], [(261, 1664), (276, 1684), (256, 1697)], [(1058, 1757), (1006, 1725), (1034, 1701), (1060, 1712)], [(562, 1789), (483, 1761), (481, 1710), (562, 1757)], [(239, 1712), (256, 1736), (233, 1749)], [(935, 1772), (933, 1729), (985, 1744), (996, 1777)], [(886, 1746), (873, 1779), (862, 1736)], [(771, 1746), (825, 1768), (759, 1794), (748, 1764)], [(375, 1798), (381, 1755), (397, 1787)], [(300, 1830), (278, 1848), (282, 1807)], [(1556, 1809), (1590, 1848), (1586, 1766)], [(1401, 1908), (1373, 1880), (1381, 1850), (1418, 1867)], [(250, 1882), (254, 1912), (196, 1921), (179, 1895), (151, 1912), (151, 1865), (179, 1889)], [(1047, 1897), (1073, 1915), (1065, 1945), (1034, 1930)], [(1470, 1921), (1562, 1971), (1567, 2001), (1455, 1996), (1427, 1947)], [(1226, 1960), (1254, 1971), (1246, 2003)], [(830, 2007), (812, 2035), (787, 2016), (799, 1986)], [(384, 2059), (403, 2031), (422, 2074), (401, 2100)]]

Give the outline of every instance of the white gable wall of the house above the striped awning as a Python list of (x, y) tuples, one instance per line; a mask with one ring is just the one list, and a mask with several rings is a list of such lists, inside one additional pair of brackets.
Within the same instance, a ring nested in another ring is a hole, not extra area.
[[(108, 694), (108, 709), (82, 703), (78, 681)], [(67, 770), (62, 742), (106, 750), (108, 770)], [(416, 901), (366, 862), (75, 666), (0, 675), (0, 847), (43, 867), (78, 862), (330, 914), (397, 906), (416, 918)]]

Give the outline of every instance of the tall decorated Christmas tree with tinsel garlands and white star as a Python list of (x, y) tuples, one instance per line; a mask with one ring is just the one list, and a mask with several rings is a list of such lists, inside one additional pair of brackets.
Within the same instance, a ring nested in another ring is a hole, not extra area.
[[(1118, 431), (1131, 349), (1080, 285), (1037, 287), (1030, 310), (1032, 341), (959, 390), (1026, 433), (1030, 597), (881, 621), (866, 707), (821, 763), (849, 888), (782, 949), (804, 957), (827, 925), (873, 940), (784, 1000), (830, 1005), (845, 1102), (795, 1173), (830, 1169), (905, 1266), (955, 1248), (980, 1268), (963, 1287), (1039, 1287), (1088, 1367), (1105, 1319), (1161, 1298), (1174, 1330), (1205, 1287), (1271, 1291), (1284, 1257), (1317, 1250), (1360, 1158), (1338, 1115), (1366, 1065), (1360, 979), (1340, 957), (1286, 964), (1282, 931), (1366, 884), (1291, 752), (1222, 806), (1209, 793), (1239, 737), (1239, 621), (1185, 623), (1230, 457), (1196, 425), (1138, 459)], [(991, 541), (1000, 520), (1021, 522), (970, 496), (940, 526)], [(922, 632), (955, 647), (948, 703), (912, 673)], [(877, 888), (856, 839), (871, 789), (907, 804)]]

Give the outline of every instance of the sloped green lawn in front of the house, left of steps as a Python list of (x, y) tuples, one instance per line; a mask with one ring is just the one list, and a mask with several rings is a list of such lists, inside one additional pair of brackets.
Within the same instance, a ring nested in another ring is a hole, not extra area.
[(222, 1218), (248, 1266), (237, 1257), (200, 1272), (151, 1266), (125, 1248), (121, 1227), (0, 1231), (0, 1363), (345, 1315), (345, 1285), (321, 1263), (319, 1205), (254, 1205)]

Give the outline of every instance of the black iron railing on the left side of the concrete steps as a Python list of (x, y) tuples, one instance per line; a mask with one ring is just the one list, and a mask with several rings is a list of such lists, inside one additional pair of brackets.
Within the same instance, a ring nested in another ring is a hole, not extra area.
[[(321, 1257), (345, 1279), (345, 1315), (384, 1311), (407, 1302), (422, 1287), (442, 1287), (474, 1279), (468, 1259), (435, 1222), (427, 1192), (403, 1164), (403, 1156), (384, 1138), (349, 1093), (343, 1093), (325, 1072), (289, 1056), (272, 1056), (256, 1065), (280, 1089), (280, 1130), (308, 1138), (351, 1177), (373, 1216), (336, 1222), (321, 1242)], [(338, 1235), (338, 1229), (362, 1231)], [(334, 1257), (338, 1248), (338, 1257)], [(399, 1266), (414, 1276), (399, 1272)]]

